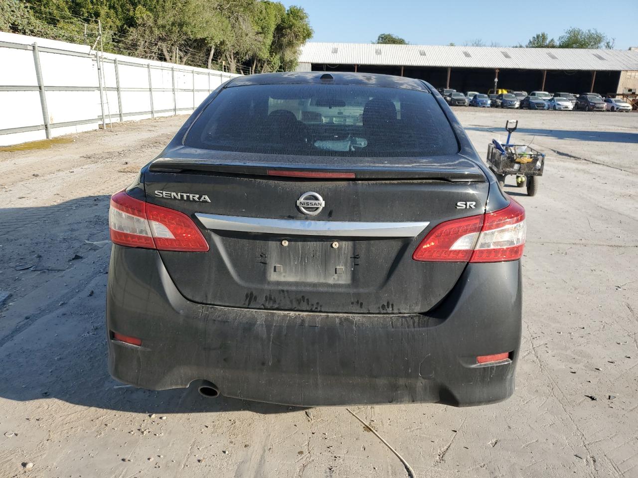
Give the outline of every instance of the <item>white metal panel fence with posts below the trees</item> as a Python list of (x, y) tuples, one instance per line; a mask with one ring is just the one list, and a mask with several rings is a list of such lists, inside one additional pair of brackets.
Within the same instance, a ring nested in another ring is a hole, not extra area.
[(0, 145), (192, 112), (233, 76), (0, 32)]

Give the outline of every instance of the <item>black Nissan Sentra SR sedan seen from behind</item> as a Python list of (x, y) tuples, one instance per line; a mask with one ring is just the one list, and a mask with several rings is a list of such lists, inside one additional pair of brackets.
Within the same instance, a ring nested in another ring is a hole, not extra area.
[(498, 402), (524, 210), (420, 80), (229, 80), (111, 199), (108, 366), (287, 405)]

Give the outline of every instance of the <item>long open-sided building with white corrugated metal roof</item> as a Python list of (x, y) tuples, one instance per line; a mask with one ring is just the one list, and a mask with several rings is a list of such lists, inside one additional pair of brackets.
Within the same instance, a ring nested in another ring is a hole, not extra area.
[(638, 51), (318, 43), (302, 47), (299, 71), (359, 71), (421, 78), (435, 87), (498, 87), (601, 94), (635, 92)]

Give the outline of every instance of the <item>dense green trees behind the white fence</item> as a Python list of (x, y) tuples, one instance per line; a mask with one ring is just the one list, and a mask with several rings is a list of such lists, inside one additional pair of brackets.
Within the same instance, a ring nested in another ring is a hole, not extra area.
[(266, 0), (0, 0), (1, 31), (93, 45), (98, 20), (105, 51), (242, 73), (294, 69), (313, 34)]

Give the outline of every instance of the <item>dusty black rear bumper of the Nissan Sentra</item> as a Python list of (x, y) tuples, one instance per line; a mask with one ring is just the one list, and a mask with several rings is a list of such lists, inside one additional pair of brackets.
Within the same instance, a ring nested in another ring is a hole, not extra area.
[[(521, 266), (468, 264), (428, 314), (280, 312), (188, 301), (157, 251), (114, 245), (107, 329), (109, 372), (138, 387), (206, 379), (225, 396), (286, 405), (482, 405), (514, 391)], [(510, 359), (477, 364), (500, 352)]]

